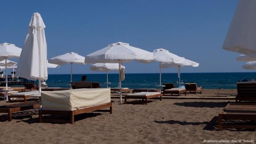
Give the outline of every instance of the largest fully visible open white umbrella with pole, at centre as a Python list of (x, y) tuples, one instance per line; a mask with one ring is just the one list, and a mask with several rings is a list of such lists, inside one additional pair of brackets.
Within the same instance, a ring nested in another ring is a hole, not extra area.
[[(130, 62), (132, 60), (152, 61), (154, 60), (153, 53), (139, 48), (130, 46), (129, 43), (117, 42), (100, 49), (94, 53), (88, 54), (85, 57), (85, 63), (118, 63), (119, 64), (119, 86), (120, 88), (120, 102), (122, 103), (122, 84), (121, 84), (121, 65), (123, 62)], [(124, 72), (124, 71), (123, 71)]]

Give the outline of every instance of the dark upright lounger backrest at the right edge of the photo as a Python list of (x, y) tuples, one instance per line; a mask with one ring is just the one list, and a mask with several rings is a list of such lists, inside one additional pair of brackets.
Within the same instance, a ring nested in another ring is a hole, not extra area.
[(238, 82), (237, 101), (256, 101), (256, 82)]

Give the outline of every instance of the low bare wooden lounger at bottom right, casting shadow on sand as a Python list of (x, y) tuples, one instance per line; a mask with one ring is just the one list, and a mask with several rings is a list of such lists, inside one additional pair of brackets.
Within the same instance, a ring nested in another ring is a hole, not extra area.
[[(251, 120), (252, 125), (222, 124), (222, 120)], [(256, 104), (229, 103), (219, 114), (219, 130), (222, 128), (256, 129)]]

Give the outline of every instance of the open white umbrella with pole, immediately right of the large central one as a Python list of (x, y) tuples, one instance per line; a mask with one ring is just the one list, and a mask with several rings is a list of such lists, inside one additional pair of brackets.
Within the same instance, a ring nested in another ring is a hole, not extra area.
[(159, 88), (161, 90), (162, 83), (161, 83), (161, 69), (162, 69), (162, 62), (166, 63), (173, 63), (173, 64), (181, 64), (184, 62), (185, 58), (179, 57), (176, 54), (170, 53), (169, 50), (166, 49), (155, 49), (154, 52), (154, 60), (159, 62)]

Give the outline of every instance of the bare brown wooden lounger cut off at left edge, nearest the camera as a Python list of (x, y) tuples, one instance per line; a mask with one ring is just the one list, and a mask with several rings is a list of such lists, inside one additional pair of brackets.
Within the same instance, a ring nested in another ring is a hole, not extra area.
[(39, 101), (0, 106), (0, 113), (8, 113), (8, 118), (1, 117), (0, 119), (7, 119), (8, 121), (12, 121), (12, 113), (23, 110), (38, 109), (39, 107)]

